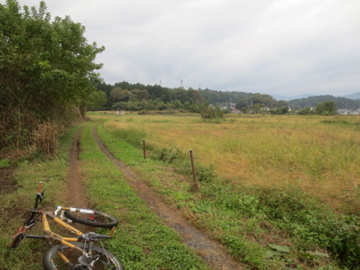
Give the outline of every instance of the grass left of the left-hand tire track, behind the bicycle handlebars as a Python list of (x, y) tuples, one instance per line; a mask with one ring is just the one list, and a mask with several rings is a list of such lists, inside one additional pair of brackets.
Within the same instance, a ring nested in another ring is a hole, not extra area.
[[(71, 129), (61, 138), (59, 157), (54, 160), (23, 160), (16, 169), (15, 191), (1, 194), (0, 215), (0, 267), (11, 270), (42, 269), (42, 257), (49, 245), (42, 240), (25, 239), (17, 249), (11, 249), (12, 236), (23, 225), (24, 214), (34, 205), (37, 183), (42, 181), (46, 188), (44, 208), (53, 209), (64, 190), (67, 174), (67, 153), (76, 129)], [(42, 235), (42, 224), (34, 226), (31, 234)]]

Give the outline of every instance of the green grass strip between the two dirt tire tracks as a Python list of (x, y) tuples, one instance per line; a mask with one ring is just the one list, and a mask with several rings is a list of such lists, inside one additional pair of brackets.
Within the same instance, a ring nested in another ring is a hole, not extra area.
[[(126, 269), (208, 269), (180, 237), (136, 195), (101, 150), (94, 146), (92, 126), (82, 134), (82, 172), (94, 207), (119, 219), (108, 249)], [(127, 149), (122, 149), (127, 152)], [(128, 153), (129, 154), (129, 153)], [(140, 162), (133, 155), (132, 162)]]

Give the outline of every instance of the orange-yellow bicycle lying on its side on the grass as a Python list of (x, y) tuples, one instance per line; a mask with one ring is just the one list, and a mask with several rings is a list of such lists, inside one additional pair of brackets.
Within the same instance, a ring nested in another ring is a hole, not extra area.
[[(116, 269), (122, 270), (120, 261), (103, 246), (94, 245), (101, 239), (111, 238), (115, 226), (118, 224), (116, 218), (101, 211), (84, 208), (57, 206), (54, 212), (38, 209), (42, 204), (45, 190), (42, 190), (42, 182), (39, 182), (36, 192), (34, 208), (29, 211), (29, 217), (24, 221), (18, 232), (13, 236), (12, 248), (17, 248), (25, 238), (43, 239), (50, 242), (59, 242), (46, 251), (43, 265), (46, 270), (70, 269), (70, 270), (100, 270)], [(59, 217), (57, 217), (59, 216)], [(43, 222), (43, 235), (27, 234), (27, 231), (36, 224), (41, 217)], [(50, 229), (49, 220), (55, 221), (76, 237), (63, 237)], [(77, 222), (94, 227), (112, 228), (110, 235), (101, 235), (94, 232), (83, 233), (68, 223)], [(101, 242), (100, 242), (101, 243)], [(102, 243), (101, 243), (102, 245)]]

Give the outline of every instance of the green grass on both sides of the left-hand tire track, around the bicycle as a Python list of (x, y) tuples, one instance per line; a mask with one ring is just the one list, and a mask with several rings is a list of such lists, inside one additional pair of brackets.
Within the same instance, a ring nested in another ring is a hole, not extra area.
[[(90, 205), (120, 221), (113, 239), (104, 242), (123, 263), (125, 269), (209, 269), (207, 264), (180, 237), (156, 216), (124, 180), (120, 171), (96, 146), (91, 130), (95, 123), (82, 125), (81, 174), (85, 178)], [(62, 140), (59, 157), (46, 162), (23, 162), (17, 169), (16, 191), (1, 197), (0, 267), (11, 270), (42, 269), (45, 241), (25, 239), (17, 249), (10, 249), (11, 236), (22, 225), (23, 213), (31, 209), (36, 183), (44, 182), (46, 209), (66, 205), (68, 151), (76, 129)], [(18, 211), (17, 211), (18, 210)], [(31, 233), (42, 234), (42, 224)], [(106, 231), (99, 230), (102, 233)], [(21, 258), (21, 259), (20, 259)]]

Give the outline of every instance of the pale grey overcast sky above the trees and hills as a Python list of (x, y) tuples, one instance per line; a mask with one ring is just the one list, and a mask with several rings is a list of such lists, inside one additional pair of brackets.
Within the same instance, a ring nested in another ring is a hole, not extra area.
[[(40, 1), (19, 0), (21, 6)], [(360, 92), (359, 0), (47, 0), (108, 84), (341, 96)], [(0, 0), (4, 4), (5, 0)]]

